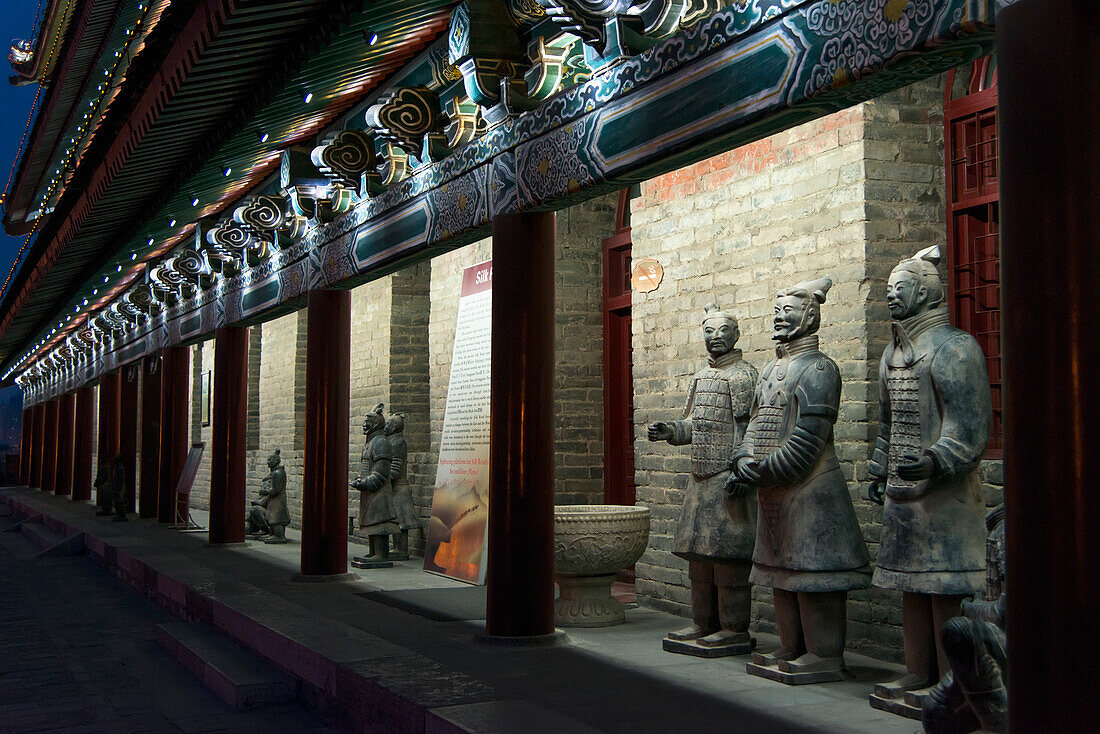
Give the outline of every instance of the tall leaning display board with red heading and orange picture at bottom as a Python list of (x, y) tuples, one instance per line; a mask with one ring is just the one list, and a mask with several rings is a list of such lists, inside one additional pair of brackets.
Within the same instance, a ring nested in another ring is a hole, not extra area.
[(490, 354), (493, 263), (462, 272), (426, 571), (485, 583), (488, 546)]

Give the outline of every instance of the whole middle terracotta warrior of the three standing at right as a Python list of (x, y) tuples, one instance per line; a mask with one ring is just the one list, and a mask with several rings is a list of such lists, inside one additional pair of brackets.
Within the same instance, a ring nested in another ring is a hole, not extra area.
[(833, 448), (840, 371), (817, 344), (832, 285), (823, 277), (777, 295), (776, 360), (760, 375), (729, 478), (732, 493), (757, 492), (750, 580), (771, 587), (779, 628), (779, 649), (754, 653), (748, 669), (784, 682), (840, 679), (847, 593), (870, 585), (870, 557)]

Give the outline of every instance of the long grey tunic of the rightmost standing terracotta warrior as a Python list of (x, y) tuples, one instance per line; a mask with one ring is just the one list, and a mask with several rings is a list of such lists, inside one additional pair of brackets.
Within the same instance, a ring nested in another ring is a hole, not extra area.
[[(875, 585), (916, 593), (982, 591), (986, 503), (978, 469), (992, 420), (986, 359), (935, 308), (894, 324), (879, 366), (879, 436), (869, 471), (886, 478)], [(906, 454), (930, 456), (931, 479), (906, 481)]]

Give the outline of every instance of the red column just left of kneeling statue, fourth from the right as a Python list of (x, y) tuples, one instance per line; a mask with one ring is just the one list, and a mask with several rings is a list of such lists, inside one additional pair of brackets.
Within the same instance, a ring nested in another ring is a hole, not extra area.
[(210, 545), (244, 543), (249, 330), (215, 331), (210, 440)]

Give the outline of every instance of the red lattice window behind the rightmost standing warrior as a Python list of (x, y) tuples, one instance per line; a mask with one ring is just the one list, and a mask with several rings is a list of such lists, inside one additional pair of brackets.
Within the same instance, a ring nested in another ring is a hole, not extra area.
[(970, 67), (965, 92), (955, 72), (944, 92), (947, 166), (947, 270), (952, 321), (986, 354), (993, 397), (987, 458), (1001, 457), (1001, 278), (998, 189), (997, 65)]

